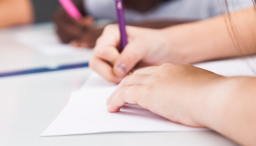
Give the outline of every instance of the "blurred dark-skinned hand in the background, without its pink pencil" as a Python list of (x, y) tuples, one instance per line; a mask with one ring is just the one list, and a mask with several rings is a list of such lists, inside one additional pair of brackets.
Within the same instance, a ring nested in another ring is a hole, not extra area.
[(93, 18), (86, 16), (80, 20), (71, 18), (63, 8), (59, 8), (54, 15), (57, 33), (64, 43), (71, 43), (76, 47), (94, 47), (102, 30), (95, 30)]

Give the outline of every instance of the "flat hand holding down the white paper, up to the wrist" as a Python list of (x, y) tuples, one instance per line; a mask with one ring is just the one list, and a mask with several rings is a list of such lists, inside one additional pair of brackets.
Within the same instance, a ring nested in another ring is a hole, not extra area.
[(107, 101), (108, 111), (118, 112), (126, 103), (139, 104), (174, 122), (203, 127), (196, 119), (202, 113), (199, 109), (223, 78), (191, 64), (167, 63), (140, 69), (117, 86)]

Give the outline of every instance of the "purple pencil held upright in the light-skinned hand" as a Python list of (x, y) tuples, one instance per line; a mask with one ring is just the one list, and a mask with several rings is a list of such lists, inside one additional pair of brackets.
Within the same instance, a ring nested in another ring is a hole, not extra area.
[(117, 13), (117, 20), (120, 28), (121, 33), (121, 46), (122, 50), (127, 45), (127, 33), (125, 30), (125, 16), (124, 16), (124, 4), (123, 0), (116, 0), (116, 13)]

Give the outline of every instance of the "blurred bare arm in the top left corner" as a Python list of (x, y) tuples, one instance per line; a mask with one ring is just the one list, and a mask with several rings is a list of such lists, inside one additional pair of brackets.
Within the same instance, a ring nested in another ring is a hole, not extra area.
[(30, 0), (0, 0), (0, 28), (33, 22)]

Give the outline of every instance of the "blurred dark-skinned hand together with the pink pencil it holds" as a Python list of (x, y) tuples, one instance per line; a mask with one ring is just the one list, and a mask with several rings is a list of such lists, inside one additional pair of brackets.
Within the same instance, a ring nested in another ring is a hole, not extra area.
[(56, 10), (53, 19), (61, 41), (74, 47), (94, 47), (103, 29), (94, 28), (94, 19), (84, 14), (82, 1), (76, 4), (77, 7), (69, 1), (67, 4), (71, 3), (71, 8), (70, 5), (66, 6), (66, 1), (69, 0), (60, 0), (63, 6)]

